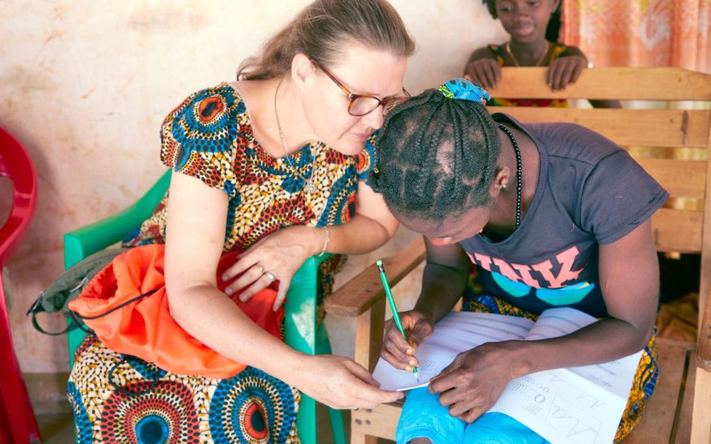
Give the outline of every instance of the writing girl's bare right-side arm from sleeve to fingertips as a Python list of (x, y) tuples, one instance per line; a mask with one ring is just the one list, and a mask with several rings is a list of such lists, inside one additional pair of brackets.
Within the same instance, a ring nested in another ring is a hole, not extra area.
[(600, 285), (609, 316), (570, 335), (489, 342), (459, 354), (430, 384), (430, 391), (442, 393), (439, 401), (450, 406), (452, 416), (471, 423), (493, 405), (510, 379), (608, 362), (647, 345), (659, 286), (651, 221), (599, 248)]

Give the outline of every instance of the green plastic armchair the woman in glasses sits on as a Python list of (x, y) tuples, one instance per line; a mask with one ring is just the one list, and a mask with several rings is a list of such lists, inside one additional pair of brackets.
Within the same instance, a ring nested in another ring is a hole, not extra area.
[[(168, 170), (158, 182), (134, 205), (104, 220), (87, 225), (64, 235), (64, 268), (69, 269), (90, 254), (121, 241), (137, 224), (148, 219), (161, 201), (171, 182)], [(284, 304), (285, 340), (289, 346), (306, 354), (330, 354), (326, 325), (316, 328), (316, 270), (329, 254), (313, 256), (296, 271), (289, 286), (287, 302)], [(74, 365), (74, 353), (86, 333), (81, 329), (68, 332), (69, 362)], [(340, 410), (328, 408), (331, 419), (333, 440), (336, 444), (346, 444), (346, 430)], [(303, 443), (316, 443), (316, 401), (301, 394), (301, 406), (296, 416), (296, 426)]]

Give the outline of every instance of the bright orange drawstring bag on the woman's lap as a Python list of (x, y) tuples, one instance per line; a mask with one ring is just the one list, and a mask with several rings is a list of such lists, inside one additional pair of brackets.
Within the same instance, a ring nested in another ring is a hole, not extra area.
[[(210, 349), (171, 317), (164, 253), (163, 244), (148, 244), (119, 254), (69, 304), (70, 310), (114, 352), (132, 354), (176, 374), (215, 379), (235, 376), (245, 369), (245, 364)], [(228, 285), (220, 276), (235, 264), (237, 254), (240, 251), (229, 251), (220, 258), (217, 271), (220, 290)], [(284, 309), (272, 311), (277, 286), (275, 281), (246, 302), (240, 301), (238, 294), (231, 299), (257, 325), (281, 339)]]

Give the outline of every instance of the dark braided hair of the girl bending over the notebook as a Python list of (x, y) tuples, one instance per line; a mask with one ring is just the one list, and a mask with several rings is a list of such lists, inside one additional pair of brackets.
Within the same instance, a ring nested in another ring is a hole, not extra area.
[(501, 151), (496, 128), (483, 104), (427, 90), (387, 114), (370, 183), (408, 219), (442, 220), (487, 206)]

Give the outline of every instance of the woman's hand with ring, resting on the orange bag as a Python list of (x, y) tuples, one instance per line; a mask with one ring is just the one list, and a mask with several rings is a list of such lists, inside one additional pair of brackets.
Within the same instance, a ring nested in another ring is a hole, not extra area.
[(325, 236), (323, 228), (292, 225), (262, 237), (223, 274), (223, 281), (242, 274), (225, 288), (225, 293), (242, 291), (240, 300), (247, 300), (278, 279), (279, 290), (272, 307), (277, 310), (287, 296), (292, 277), (306, 259), (321, 251)]

